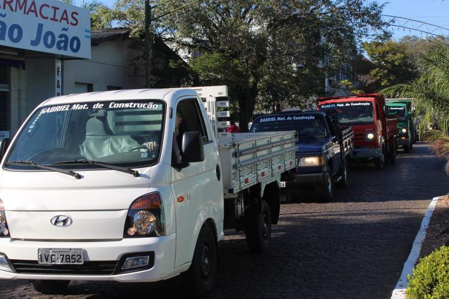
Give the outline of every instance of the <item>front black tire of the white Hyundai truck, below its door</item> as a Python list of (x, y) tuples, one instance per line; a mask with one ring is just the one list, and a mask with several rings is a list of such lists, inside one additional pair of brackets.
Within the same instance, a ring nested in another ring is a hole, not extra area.
[(192, 264), (182, 274), (189, 295), (196, 297), (210, 295), (216, 284), (217, 269), (217, 239), (206, 224), (196, 240)]

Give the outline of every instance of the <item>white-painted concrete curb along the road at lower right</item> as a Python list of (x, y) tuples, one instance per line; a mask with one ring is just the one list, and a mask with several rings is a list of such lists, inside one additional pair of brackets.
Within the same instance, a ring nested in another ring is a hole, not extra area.
[(418, 260), (419, 253), (421, 252), (422, 243), (426, 238), (427, 228), (430, 223), (430, 219), (432, 218), (433, 211), (435, 210), (435, 206), (440, 196), (434, 197), (427, 208), (427, 212), (424, 215), (424, 218), (421, 222), (421, 228), (416, 235), (415, 240), (413, 241), (412, 250), (410, 251), (410, 255), (407, 261), (404, 263), (404, 268), (402, 269), (401, 277), (397, 281), (396, 286), (394, 287), (393, 293), (391, 295), (391, 299), (406, 299), (406, 289), (409, 283), (408, 275), (412, 275), (413, 268), (416, 265), (416, 261)]

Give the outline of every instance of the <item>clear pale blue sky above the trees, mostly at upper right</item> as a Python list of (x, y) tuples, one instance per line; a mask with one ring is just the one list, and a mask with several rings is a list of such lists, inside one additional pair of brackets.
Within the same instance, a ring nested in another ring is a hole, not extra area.
[[(77, 0), (82, 2), (82, 0)], [(143, 0), (142, 0), (143, 1)], [(231, 0), (232, 1), (232, 0)], [(113, 6), (115, 0), (102, 0), (107, 6)], [(371, 2), (371, 1), (367, 1)], [(421, 22), (431, 23), (437, 26), (447, 28), (447, 30), (436, 31), (438, 34), (449, 35), (449, 0), (378, 0), (378, 3), (387, 3), (383, 14), (405, 17)], [(390, 19), (390, 18), (388, 18)], [(406, 20), (401, 20), (402, 23)], [(405, 26), (417, 28), (420, 23), (409, 22)], [(391, 27), (393, 31), (392, 38), (398, 40), (405, 35), (416, 35), (426, 37), (425, 33), (413, 30), (398, 29)], [(422, 25), (423, 31), (433, 31), (435, 27)]]

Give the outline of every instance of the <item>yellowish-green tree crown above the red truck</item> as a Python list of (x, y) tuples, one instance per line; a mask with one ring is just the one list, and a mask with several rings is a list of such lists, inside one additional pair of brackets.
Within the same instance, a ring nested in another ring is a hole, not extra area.
[(373, 64), (368, 73), (372, 81), (369, 89), (377, 91), (416, 78), (418, 72), (406, 44), (392, 40), (371, 41), (363, 43), (363, 48)]

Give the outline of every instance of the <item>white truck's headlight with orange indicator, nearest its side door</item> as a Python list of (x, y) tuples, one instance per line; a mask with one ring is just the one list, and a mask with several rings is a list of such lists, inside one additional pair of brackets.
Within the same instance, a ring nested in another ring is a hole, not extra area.
[(123, 237), (157, 237), (165, 235), (164, 209), (159, 193), (148, 193), (135, 200), (125, 222)]

